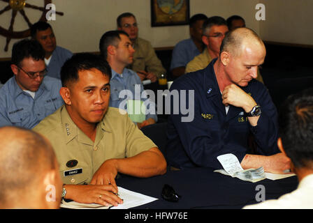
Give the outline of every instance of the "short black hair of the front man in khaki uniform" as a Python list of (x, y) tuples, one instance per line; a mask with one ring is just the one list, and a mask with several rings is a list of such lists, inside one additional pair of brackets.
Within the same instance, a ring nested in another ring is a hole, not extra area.
[(100, 70), (103, 75), (108, 75), (109, 79), (111, 79), (110, 65), (101, 56), (90, 53), (74, 54), (61, 68), (62, 86), (67, 86), (70, 82), (77, 82), (79, 71), (92, 69)]

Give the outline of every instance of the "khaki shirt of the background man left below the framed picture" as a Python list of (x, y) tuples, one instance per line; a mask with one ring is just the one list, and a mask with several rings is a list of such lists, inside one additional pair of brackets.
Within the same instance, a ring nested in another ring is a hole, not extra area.
[(136, 52), (133, 54), (131, 70), (136, 72), (139, 70), (153, 72), (157, 77), (160, 77), (161, 73), (166, 72), (150, 42), (137, 38), (133, 47)]

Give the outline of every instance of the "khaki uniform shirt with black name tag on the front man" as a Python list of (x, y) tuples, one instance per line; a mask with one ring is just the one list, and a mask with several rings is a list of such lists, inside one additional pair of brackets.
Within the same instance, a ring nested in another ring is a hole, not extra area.
[(113, 107), (98, 123), (94, 142), (73, 123), (65, 106), (43, 119), (34, 130), (50, 140), (65, 184), (90, 183), (105, 160), (132, 157), (157, 147), (127, 114)]

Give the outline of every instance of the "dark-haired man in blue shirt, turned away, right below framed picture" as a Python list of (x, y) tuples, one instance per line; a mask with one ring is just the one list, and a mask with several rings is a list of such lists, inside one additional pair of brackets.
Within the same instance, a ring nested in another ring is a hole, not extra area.
[(170, 61), (170, 72), (174, 77), (184, 74), (187, 63), (201, 54), (205, 46), (202, 43), (202, 25), (208, 17), (204, 14), (193, 15), (189, 20), (190, 38), (177, 43)]

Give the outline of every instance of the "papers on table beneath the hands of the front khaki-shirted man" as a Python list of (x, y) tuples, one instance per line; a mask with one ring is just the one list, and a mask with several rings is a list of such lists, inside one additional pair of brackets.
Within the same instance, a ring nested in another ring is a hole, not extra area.
[(78, 203), (75, 201), (66, 202), (62, 200), (60, 205), (61, 208), (71, 208), (71, 209), (128, 209), (136, 206), (143, 205), (145, 203), (150, 203), (157, 200), (157, 198), (149, 197), (144, 194), (139, 194), (126, 190), (123, 187), (117, 187), (119, 190), (119, 197), (123, 199), (124, 203), (118, 206), (103, 206), (97, 203)]

